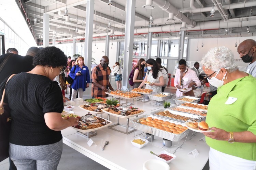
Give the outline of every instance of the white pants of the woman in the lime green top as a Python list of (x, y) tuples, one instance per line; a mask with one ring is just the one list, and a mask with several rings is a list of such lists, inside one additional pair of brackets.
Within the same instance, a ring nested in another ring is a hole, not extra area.
[(256, 170), (256, 161), (228, 155), (212, 148), (209, 152), (209, 164), (210, 170)]

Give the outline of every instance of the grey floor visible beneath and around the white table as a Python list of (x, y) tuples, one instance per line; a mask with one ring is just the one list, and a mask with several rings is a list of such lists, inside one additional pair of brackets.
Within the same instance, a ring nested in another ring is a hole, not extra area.
[[(112, 77), (111, 85), (116, 89), (115, 79)], [(83, 94), (83, 99), (91, 98), (91, 85)], [(166, 89), (166, 92), (175, 93), (176, 90)], [(69, 94), (66, 94), (66, 97), (69, 98)], [(9, 159), (5, 159), (0, 162), (0, 170), (8, 170), (9, 169)], [(71, 170), (71, 169), (86, 169), (86, 170), (107, 170), (108, 168), (98, 164), (94, 160), (84, 156), (83, 154), (75, 151), (69, 146), (63, 143), (63, 152), (61, 155), (60, 163), (58, 165), (57, 170)], [(209, 162), (205, 165), (203, 170), (209, 170)]]

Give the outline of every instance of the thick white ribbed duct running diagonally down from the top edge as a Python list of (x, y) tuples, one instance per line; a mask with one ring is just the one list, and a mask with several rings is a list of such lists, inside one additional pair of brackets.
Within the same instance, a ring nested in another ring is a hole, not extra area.
[(186, 22), (188, 27), (194, 27), (196, 25), (193, 20), (187, 18), (183, 13), (181, 13), (177, 8), (171, 5), (169, 0), (153, 0), (163, 11), (167, 13), (173, 13), (177, 20), (181, 22)]

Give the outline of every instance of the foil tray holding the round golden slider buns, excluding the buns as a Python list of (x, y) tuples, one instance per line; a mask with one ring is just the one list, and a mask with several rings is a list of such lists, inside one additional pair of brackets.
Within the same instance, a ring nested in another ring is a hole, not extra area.
[(140, 130), (140, 131), (143, 131), (143, 132), (146, 132), (146, 133), (150, 133), (152, 135), (156, 135), (158, 137), (165, 138), (165, 139), (168, 139), (168, 140), (171, 140), (171, 141), (179, 141), (182, 138), (184, 138), (185, 136), (187, 136), (187, 134), (189, 132), (189, 130), (186, 130), (183, 133), (178, 135), (178, 134), (162, 131), (160, 129), (156, 129), (156, 128), (153, 128), (153, 127), (150, 127), (150, 126), (147, 126), (147, 125), (144, 125), (144, 124), (140, 124), (139, 122), (137, 122), (137, 120), (146, 119), (147, 117), (152, 117), (153, 119), (157, 118), (159, 120), (169, 121), (170, 123), (181, 124), (183, 126), (183, 123), (168, 120), (168, 119), (164, 119), (164, 118), (161, 118), (161, 117), (158, 117), (158, 116), (153, 116), (153, 115), (144, 115), (144, 116), (138, 117), (136, 119), (132, 119), (132, 120), (130, 120), (130, 122), (133, 123), (134, 128), (137, 129), (137, 130)]

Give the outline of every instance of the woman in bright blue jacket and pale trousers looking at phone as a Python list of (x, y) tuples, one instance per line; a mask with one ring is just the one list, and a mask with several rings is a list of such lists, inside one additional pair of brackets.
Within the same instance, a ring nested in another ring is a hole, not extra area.
[(88, 88), (89, 83), (91, 83), (88, 67), (86, 67), (84, 64), (84, 57), (77, 58), (76, 66), (72, 67), (69, 75), (72, 79), (74, 79), (74, 82), (71, 85), (71, 88), (72, 88), (71, 100), (73, 100), (74, 97), (76, 97), (77, 89), (79, 89), (78, 97), (82, 99), (85, 88)]

